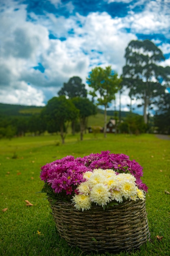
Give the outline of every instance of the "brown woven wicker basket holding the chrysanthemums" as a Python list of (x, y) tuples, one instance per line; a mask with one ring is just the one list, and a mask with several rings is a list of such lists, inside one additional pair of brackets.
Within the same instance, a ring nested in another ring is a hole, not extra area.
[(129, 252), (150, 238), (142, 200), (125, 201), (105, 211), (94, 206), (82, 212), (60, 200), (50, 206), (59, 235), (86, 252)]

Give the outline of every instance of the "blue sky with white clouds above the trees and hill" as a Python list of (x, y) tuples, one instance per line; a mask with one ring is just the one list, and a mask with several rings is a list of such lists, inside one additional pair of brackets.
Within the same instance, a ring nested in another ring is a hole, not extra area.
[(0, 0), (0, 103), (44, 106), (98, 65), (120, 75), (128, 43), (144, 39), (170, 65), (170, 0)]

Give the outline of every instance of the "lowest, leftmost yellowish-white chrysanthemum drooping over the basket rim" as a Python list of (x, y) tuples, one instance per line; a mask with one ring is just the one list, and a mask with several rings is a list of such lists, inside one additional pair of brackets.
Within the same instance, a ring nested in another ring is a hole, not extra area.
[(78, 210), (82, 209), (82, 211), (84, 211), (91, 208), (91, 200), (89, 195), (74, 195), (72, 201), (74, 203), (74, 207), (76, 207)]

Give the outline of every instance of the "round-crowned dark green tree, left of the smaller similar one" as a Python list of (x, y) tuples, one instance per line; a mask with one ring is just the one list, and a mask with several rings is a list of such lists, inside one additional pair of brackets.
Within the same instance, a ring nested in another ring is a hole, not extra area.
[[(78, 115), (78, 110), (70, 99), (65, 96), (53, 97), (44, 107), (41, 116), (47, 122), (53, 120), (56, 127), (59, 127), (62, 143), (64, 144), (65, 136), (69, 121), (75, 119)], [(53, 125), (54, 125), (53, 123)]]

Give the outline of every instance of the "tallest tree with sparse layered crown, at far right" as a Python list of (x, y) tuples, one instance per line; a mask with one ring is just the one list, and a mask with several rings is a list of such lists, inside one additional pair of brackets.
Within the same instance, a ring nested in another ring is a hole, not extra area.
[(130, 89), (130, 95), (142, 99), (143, 116), (148, 123), (147, 112), (153, 108), (155, 97), (160, 97), (165, 86), (170, 84), (170, 67), (159, 63), (165, 57), (150, 40), (132, 40), (125, 51), (126, 65), (123, 67), (123, 84)]

